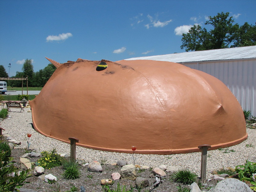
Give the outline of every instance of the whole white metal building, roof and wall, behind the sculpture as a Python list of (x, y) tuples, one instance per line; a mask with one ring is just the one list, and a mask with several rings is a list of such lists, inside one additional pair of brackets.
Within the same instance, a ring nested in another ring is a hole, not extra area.
[(220, 79), (236, 96), (243, 110), (256, 116), (256, 46), (214, 49), (137, 57), (183, 64)]

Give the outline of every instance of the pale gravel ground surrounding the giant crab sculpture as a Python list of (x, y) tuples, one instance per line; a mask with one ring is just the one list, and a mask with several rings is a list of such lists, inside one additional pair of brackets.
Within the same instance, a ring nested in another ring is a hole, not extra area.
[[(3, 107), (3, 106), (1, 106)], [(0, 108), (1, 109), (1, 108)], [(50, 151), (53, 148), (57, 149), (58, 153), (70, 153), (70, 145), (59, 140), (55, 140), (36, 132), (32, 126), (32, 117), (30, 108), (25, 108), (25, 112), (19, 113), (19, 109), (11, 109), (9, 112), (10, 118), (0, 121), (0, 127), (4, 128), (11, 137), (15, 140), (20, 140), (20, 147), (27, 146), (27, 133), (32, 133), (30, 142), (32, 148), (37, 151)], [(239, 164), (244, 164), (248, 158), (251, 161), (256, 161), (256, 129), (247, 129), (248, 139), (242, 143), (225, 148), (225, 150), (211, 150), (207, 154), (207, 179), (210, 179), (211, 172), (222, 167), (235, 167)], [(252, 147), (246, 147), (246, 145)], [(231, 152), (230, 150), (235, 150)], [(159, 166), (165, 164), (168, 166), (178, 166), (180, 169), (188, 168), (190, 171), (196, 172), (200, 176), (201, 169), (201, 153), (176, 154), (176, 155), (141, 155), (135, 152), (135, 164)], [(100, 160), (105, 158), (107, 163), (116, 163), (118, 160), (127, 160), (128, 163), (133, 163), (132, 154), (114, 153), (106, 151), (98, 151), (80, 146), (76, 147), (76, 157), (83, 159), (85, 162), (92, 160)]]

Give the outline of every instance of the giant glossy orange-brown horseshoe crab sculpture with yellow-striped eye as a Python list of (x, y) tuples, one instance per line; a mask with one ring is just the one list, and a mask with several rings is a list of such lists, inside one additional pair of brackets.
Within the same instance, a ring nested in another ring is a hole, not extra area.
[[(50, 60), (50, 59), (48, 59)], [(176, 154), (236, 145), (247, 138), (243, 110), (218, 79), (153, 60), (60, 64), (31, 100), (37, 132), (104, 151)]]

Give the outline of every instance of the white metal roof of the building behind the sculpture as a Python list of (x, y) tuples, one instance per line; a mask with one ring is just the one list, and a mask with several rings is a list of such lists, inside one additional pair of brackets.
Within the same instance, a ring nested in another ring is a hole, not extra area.
[(158, 60), (181, 63), (193, 61), (230, 60), (248, 58), (256, 58), (256, 46), (182, 52), (148, 57), (134, 57), (126, 60)]

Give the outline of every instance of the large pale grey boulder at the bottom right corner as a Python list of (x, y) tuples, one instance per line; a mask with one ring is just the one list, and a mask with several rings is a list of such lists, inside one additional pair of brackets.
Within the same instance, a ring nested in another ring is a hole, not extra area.
[(209, 192), (252, 192), (252, 189), (238, 179), (225, 179), (217, 183)]

